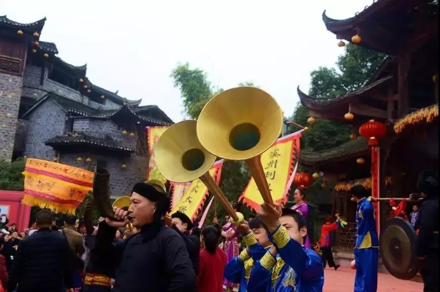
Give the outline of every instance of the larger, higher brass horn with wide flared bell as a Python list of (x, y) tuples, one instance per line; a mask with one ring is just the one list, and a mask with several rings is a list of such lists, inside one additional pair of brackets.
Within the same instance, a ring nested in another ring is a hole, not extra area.
[(211, 154), (244, 160), (263, 200), (274, 205), (261, 154), (279, 137), (283, 112), (275, 99), (255, 87), (236, 87), (214, 96), (197, 120), (197, 137)]

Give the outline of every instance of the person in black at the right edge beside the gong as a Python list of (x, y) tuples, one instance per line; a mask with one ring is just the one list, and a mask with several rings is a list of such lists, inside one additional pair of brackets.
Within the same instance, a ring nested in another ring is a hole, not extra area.
[(416, 253), (421, 260), (424, 292), (438, 292), (438, 175), (426, 171), (419, 175), (417, 189), (425, 197), (420, 208)]

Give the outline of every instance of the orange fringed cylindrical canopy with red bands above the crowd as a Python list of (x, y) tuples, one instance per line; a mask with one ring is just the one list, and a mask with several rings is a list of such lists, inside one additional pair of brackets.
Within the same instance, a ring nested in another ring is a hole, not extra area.
[(89, 191), (94, 173), (85, 169), (40, 159), (26, 159), (22, 203), (75, 214)]

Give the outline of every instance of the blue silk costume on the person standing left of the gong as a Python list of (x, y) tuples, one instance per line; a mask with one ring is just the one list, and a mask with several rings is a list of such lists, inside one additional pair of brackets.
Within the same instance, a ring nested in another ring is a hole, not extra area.
[(369, 199), (362, 198), (357, 202), (356, 209), (354, 292), (377, 291), (378, 254), (379, 240), (374, 207)]

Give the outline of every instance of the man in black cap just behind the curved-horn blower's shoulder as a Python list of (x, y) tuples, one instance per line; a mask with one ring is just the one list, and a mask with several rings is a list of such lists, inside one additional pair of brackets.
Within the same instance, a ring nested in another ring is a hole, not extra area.
[(180, 211), (174, 212), (171, 215), (171, 218), (171, 228), (174, 229), (182, 239), (184, 239), (188, 254), (193, 263), (194, 271), (197, 274), (197, 268), (199, 267), (200, 239), (197, 236), (190, 234), (191, 229), (193, 229), (193, 222), (190, 217)]

